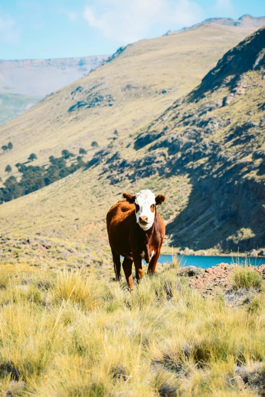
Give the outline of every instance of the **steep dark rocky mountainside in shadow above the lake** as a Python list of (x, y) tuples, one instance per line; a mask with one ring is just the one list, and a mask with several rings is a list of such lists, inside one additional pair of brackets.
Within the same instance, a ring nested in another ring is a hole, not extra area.
[(101, 164), (112, 184), (188, 175), (188, 204), (167, 225), (175, 246), (244, 251), (265, 244), (264, 59), (262, 28), (134, 135), (134, 157), (114, 141), (90, 163)]

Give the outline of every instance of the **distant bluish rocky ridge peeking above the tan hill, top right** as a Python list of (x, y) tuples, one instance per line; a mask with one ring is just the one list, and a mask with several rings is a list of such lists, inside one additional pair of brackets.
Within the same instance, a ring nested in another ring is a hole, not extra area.
[(203, 22), (196, 23), (190, 27), (184, 27), (180, 30), (168, 30), (165, 33), (165, 36), (170, 36), (172, 34), (178, 34), (180, 32), (195, 29), (200, 26), (207, 25), (209, 23), (215, 23), (217, 25), (224, 25), (224, 26), (240, 26), (240, 27), (261, 27), (265, 25), (265, 17), (252, 17), (249, 14), (245, 14), (239, 19), (232, 19), (232, 18), (208, 18)]

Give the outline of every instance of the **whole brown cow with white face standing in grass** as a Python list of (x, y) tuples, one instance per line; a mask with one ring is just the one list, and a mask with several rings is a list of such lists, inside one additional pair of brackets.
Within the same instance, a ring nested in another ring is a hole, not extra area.
[(148, 272), (154, 273), (164, 239), (165, 228), (156, 206), (165, 197), (155, 197), (150, 190), (141, 190), (132, 196), (123, 193), (125, 201), (118, 201), (107, 213), (107, 230), (111, 246), (116, 280), (120, 279), (120, 256), (124, 257), (122, 267), (130, 290), (132, 262), (136, 278), (143, 277), (142, 259), (148, 263)]

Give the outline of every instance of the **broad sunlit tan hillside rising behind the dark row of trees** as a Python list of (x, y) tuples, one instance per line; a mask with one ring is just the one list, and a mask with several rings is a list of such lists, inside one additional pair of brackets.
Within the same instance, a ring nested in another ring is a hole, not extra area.
[(62, 149), (89, 149), (94, 140), (103, 147), (115, 129), (127, 136), (193, 89), (253, 30), (209, 24), (118, 51), (112, 61), (0, 128), (0, 143), (14, 145), (12, 153), (0, 156), (0, 175), (32, 152), (43, 163)]

